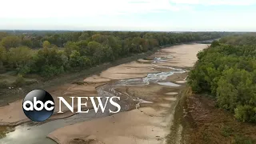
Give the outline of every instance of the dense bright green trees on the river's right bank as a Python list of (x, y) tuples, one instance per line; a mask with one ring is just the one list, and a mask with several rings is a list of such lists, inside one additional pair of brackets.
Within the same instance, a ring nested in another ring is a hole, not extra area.
[(189, 75), (194, 92), (209, 93), (242, 122), (256, 122), (255, 40), (256, 34), (245, 34), (212, 42)]

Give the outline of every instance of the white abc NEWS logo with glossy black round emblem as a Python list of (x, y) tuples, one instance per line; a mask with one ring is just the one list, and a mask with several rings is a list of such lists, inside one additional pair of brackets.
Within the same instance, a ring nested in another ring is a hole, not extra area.
[[(102, 102), (102, 97), (70, 97), (71, 104), (66, 101), (65, 98), (57, 97), (59, 106), (58, 113), (62, 112), (62, 105), (64, 104), (72, 113), (74, 113), (74, 98), (77, 98), (77, 108), (76, 113), (88, 113), (89, 110), (83, 111), (82, 106), (87, 106), (87, 101), (90, 98), (90, 101), (94, 107), (95, 113), (101, 109), (101, 112), (104, 113), (106, 110), (107, 102), (110, 102), (112, 106), (115, 106), (118, 110), (112, 111), (109, 109), (110, 113), (118, 113), (121, 110), (121, 106), (118, 102), (115, 102), (114, 99), (120, 100), (120, 97), (105, 97), (106, 101)], [(97, 101), (95, 101), (95, 98)], [(83, 103), (82, 103), (83, 102)], [(98, 103), (98, 105), (97, 105)], [(32, 90), (29, 94), (26, 94), (26, 97), (23, 99), (22, 108), (24, 114), (27, 118), (34, 122), (43, 122), (46, 119), (50, 118), (54, 114), (54, 98), (45, 90)]]

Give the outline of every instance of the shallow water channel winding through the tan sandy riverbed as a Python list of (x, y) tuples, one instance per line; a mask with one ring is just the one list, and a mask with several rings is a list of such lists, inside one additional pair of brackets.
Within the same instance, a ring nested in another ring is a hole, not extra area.
[[(158, 62), (166, 62), (166, 60), (162, 58), (154, 58), (154, 62), (152, 65), (158, 66)], [(103, 86), (99, 86), (98, 96), (101, 97), (113, 97), (113, 96), (120, 96), (120, 92), (115, 90), (116, 86), (145, 86), (149, 85), (150, 83), (158, 83), (159, 85), (163, 86), (179, 86), (178, 84), (174, 84), (172, 82), (159, 82), (161, 80), (165, 80), (167, 77), (174, 73), (185, 73), (185, 70), (175, 69), (168, 66), (159, 66), (162, 68), (170, 69), (169, 72), (161, 72), (156, 74), (147, 74), (145, 78), (134, 78), (134, 79), (127, 79), (127, 80), (120, 80), (118, 82), (112, 84), (106, 84)], [(132, 98), (127, 96), (127, 98)], [(134, 101), (138, 103), (150, 103), (144, 101), (139, 98), (133, 98)], [(103, 102), (104, 103), (104, 102)], [(122, 111), (128, 109), (128, 105), (121, 105)], [(112, 109), (111, 107), (106, 106), (106, 109)], [(57, 130), (63, 126), (68, 126), (77, 122), (84, 122), (91, 120), (93, 118), (102, 118), (106, 117), (109, 114), (105, 113), (97, 113), (95, 114), (94, 110), (89, 110), (88, 114), (75, 114), (69, 118), (58, 119), (50, 122), (27, 122), (20, 126), (15, 126), (12, 128), (4, 127), (4, 130), (0, 129), (0, 133), (2, 138), (0, 139), (1, 144), (55, 144), (53, 140), (47, 138), (47, 134), (50, 132)], [(6, 131), (5, 131), (6, 130)]]

